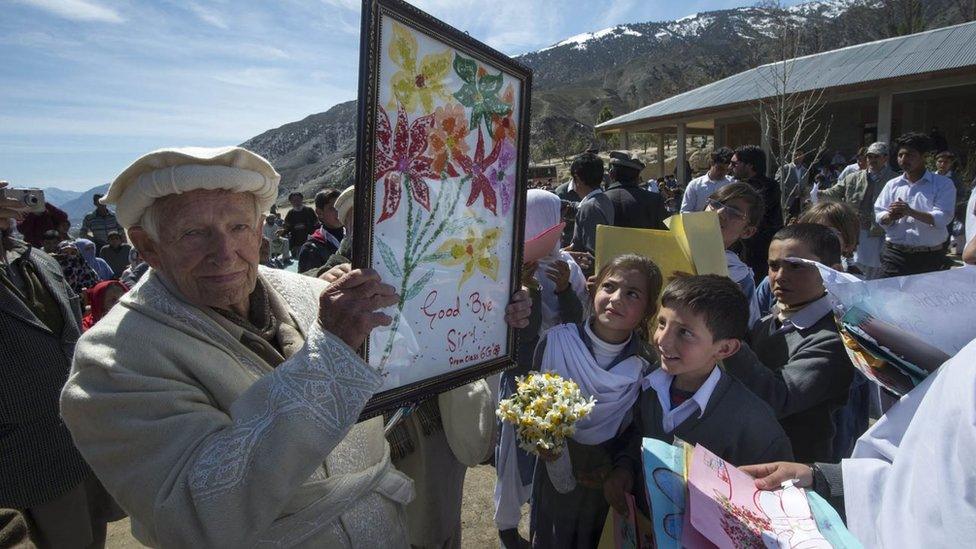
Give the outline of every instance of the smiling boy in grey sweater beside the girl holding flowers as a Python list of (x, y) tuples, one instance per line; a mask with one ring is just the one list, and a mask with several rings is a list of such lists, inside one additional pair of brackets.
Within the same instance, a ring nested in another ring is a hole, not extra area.
[(660, 364), (644, 379), (627, 444), (604, 483), (615, 509), (627, 514), (624, 494), (641, 493), (645, 437), (701, 444), (735, 465), (793, 455), (769, 406), (719, 367), (739, 350), (746, 320), (745, 296), (728, 278), (679, 277), (664, 289), (654, 331)]

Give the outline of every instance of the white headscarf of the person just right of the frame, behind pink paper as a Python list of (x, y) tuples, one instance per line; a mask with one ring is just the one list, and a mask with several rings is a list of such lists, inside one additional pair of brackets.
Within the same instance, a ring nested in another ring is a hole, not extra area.
[[(562, 202), (555, 194), (542, 189), (529, 189), (525, 196), (525, 240), (529, 241), (546, 232), (561, 219)], [(540, 333), (549, 328), (562, 324), (567, 320), (559, 318), (559, 298), (556, 297), (556, 284), (546, 276), (546, 269), (553, 262), (563, 260), (569, 264), (569, 285), (579, 296), (582, 303), (588, 300), (586, 293), (586, 277), (573, 260), (573, 256), (559, 249), (559, 242), (553, 246), (549, 255), (539, 260), (535, 271), (535, 279), (539, 282), (542, 293), (542, 327)]]

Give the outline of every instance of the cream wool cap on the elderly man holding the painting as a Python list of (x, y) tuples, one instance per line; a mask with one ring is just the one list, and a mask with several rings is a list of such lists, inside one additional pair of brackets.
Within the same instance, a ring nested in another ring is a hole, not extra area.
[(159, 149), (126, 168), (100, 202), (115, 204), (116, 219), (128, 229), (156, 199), (198, 189), (253, 193), (267, 211), (278, 198), (280, 180), (270, 162), (240, 147)]

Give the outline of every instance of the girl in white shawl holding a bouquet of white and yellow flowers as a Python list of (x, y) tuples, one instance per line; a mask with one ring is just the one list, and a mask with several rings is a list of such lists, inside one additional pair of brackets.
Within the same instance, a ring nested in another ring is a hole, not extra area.
[[(608, 505), (603, 480), (620, 450), (619, 435), (631, 422), (631, 408), (646, 374), (648, 349), (638, 329), (657, 309), (661, 271), (646, 257), (627, 254), (596, 276), (590, 316), (581, 324), (555, 326), (539, 341), (533, 366), (572, 379), (596, 405), (567, 440), (576, 486), (556, 490), (544, 456), (532, 486), (532, 545), (592, 548), (600, 540)], [(643, 333), (646, 333), (643, 332)], [(561, 456), (558, 459), (565, 459)]]

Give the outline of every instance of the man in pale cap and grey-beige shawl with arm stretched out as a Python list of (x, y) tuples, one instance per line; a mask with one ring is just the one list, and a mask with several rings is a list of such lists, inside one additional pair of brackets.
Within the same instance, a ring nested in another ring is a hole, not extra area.
[[(858, 269), (869, 279), (881, 274), (881, 249), (885, 231), (874, 219), (874, 201), (885, 183), (895, 177), (888, 167), (888, 145), (872, 143), (865, 154), (867, 169), (856, 171), (839, 180), (836, 185), (816, 194), (817, 200), (836, 200), (853, 206), (861, 219), (854, 260)], [(811, 195), (812, 196), (812, 195)]]

